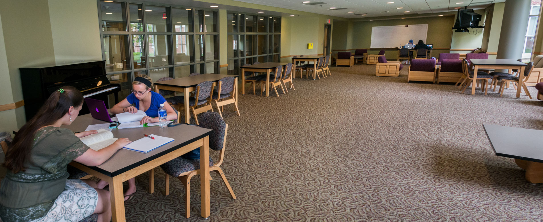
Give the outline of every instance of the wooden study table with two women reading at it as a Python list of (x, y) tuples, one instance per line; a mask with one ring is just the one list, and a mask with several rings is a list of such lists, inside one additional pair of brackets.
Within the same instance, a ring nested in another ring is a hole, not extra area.
[[(65, 126), (74, 132), (85, 131), (90, 124), (106, 123), (103, 120), (94, 119), (90, 114), (78, 116), (71, 125)], [(200, 189), (201, 189), (201, 216), (210, 216), (210, 191), (209, 180), (209, 135), (212, 130), (197, 126), (180, 125), (160, 128), (159, 126), (138, 127), (131, 129), (113, 129), (115, 138), (129, 138), (131, 141), (141, 139), (143, 134), (155, 134), (175, 140), (162, 145), (148, 153), (140, 153), (130, 150), (118, 150), (105, 163), (99, 166), (86, 166), (77, 162), (70, 165), (83, 170), (92, 176), (108, 181), (111, 198), (111, 213), (113, 222), (125, 222), (123, 181), (149, 171), (149, 178), (153, 178), (153, 169), (191, 150), (200, 149)], [(149, 184), (150, 192), (153, 192), (153, 184)], [(173, 218), (172, 218), (173, 219)]]

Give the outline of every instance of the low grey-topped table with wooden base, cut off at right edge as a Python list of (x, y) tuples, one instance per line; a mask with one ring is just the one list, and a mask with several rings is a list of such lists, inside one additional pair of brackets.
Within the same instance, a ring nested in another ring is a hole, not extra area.
[(496, 156), (514, 158), (526, 170), (526, 180), (543, 183), (543, 130), (483, 124)]

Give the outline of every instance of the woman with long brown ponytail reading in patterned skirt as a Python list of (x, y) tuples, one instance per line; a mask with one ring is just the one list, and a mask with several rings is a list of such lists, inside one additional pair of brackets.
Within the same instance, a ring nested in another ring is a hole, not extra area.
[(3, 164), (8, 169), (0, 186), (4, 222), (73, 221), (93, 213), (99, 222), (111, 220), (109, 191), (98, 189), (92, 180), (67, 179), (66, 166), (72, 160), (87, 166), (103, 164), (130, 140), (119, 138), (99, 151), (90, 149), (79, 138), (96, 131), (61, 128), (73, 123), (82, 106), (81, 92), (64, 86), (17, 132)]

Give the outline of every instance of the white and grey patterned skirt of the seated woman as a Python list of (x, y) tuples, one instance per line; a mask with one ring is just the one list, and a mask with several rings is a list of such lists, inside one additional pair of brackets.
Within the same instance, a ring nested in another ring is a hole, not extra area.
[(80, 179), (68, 179), (46, 216), (30, 222), (77, 222), (91, 216), (97, 204), (94, 188)]

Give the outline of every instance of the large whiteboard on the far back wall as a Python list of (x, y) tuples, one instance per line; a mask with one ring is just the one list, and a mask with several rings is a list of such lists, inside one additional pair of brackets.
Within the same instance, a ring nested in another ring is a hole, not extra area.
[[(413, 39), (416, 44), (420, 39), (426, 43), (428, 24), (392, 25), (371, 27), (371, 48), (397, 48)], [(426, 43), (427, 44), (427, 43)]]

